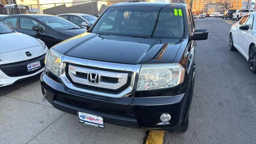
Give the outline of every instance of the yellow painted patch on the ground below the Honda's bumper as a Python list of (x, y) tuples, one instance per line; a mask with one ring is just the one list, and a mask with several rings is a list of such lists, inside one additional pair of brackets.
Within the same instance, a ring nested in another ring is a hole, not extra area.
[(162, 130), (150, 130), (146, 144), (163, 144), (164, 131)]

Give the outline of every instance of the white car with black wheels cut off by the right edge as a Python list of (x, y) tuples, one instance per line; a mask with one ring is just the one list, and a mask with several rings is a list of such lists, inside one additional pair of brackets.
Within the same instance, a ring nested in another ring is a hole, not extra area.
[(256, 73), (256, 12), (250, 12), (231, 27), (230, 50), (238, 50)]

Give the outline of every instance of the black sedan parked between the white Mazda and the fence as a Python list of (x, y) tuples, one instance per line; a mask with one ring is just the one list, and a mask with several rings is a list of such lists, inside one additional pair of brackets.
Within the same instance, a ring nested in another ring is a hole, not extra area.
[(15, 14), (2, 18), (0, 22), (17, 32), (39, 38), (48, 48), (86, 32), (68, 20), (47, 14)]

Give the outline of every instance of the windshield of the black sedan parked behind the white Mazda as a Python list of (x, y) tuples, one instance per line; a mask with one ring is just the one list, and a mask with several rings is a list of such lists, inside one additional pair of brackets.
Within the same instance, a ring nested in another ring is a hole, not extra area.
[(58, 16), (47, 16), (47, 17), (40, 17), (38, 18), (47, 26), (54, 30), (68, 30), (68, 29), (75, 29), (80, 28), (76, 24), (65, 20), (64, 18), (60, 18)]

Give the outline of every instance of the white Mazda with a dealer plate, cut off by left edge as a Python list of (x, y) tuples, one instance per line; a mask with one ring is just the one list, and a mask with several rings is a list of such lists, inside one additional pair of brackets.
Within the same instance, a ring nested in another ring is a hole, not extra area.
[(0, 22), (0, 87), (44, 71), (48, 50), (42, 40), (16, 32)]

